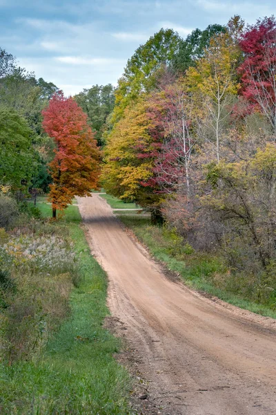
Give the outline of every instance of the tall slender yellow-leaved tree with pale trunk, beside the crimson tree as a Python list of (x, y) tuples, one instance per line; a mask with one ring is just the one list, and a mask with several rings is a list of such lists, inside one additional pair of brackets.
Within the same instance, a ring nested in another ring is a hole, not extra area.
[(236, 69), (241, 55), (238, 39), (243, 26), (244, 22), (238, 16), (230, 19), (226, 32), (210, 39), (204, 57), (199, 59), (196, 68), (190, 67), (187, 71), (190, 93), (194, 93), (194, 100), (206, 113), (205, 120), (215, 135), (218, 163), (221, 127), (233, 109), (233, 96), (239, 88)]

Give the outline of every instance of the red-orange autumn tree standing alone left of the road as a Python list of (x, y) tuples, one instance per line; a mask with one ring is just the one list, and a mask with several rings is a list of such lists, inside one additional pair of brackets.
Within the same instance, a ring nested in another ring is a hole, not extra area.
[(53, 95), (43, 110), (43, 128), (55, 140), (55, 158), (49, 164), (53, 183), (49, 200), (52, 217), (74, 196), (87, 196), (96, 189), (99, 178), (99, 149), (87, 116), (72, 98)]

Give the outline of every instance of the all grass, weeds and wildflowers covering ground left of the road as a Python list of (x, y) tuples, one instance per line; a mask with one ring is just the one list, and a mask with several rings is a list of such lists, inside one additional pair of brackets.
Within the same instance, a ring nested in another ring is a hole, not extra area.
[(103, 329), (106, 274), (78, 208), (53, 223), (37, 206), (41, 219), (13, 212), (0, 230), (0, 412), (128, 414), (119, 340)]

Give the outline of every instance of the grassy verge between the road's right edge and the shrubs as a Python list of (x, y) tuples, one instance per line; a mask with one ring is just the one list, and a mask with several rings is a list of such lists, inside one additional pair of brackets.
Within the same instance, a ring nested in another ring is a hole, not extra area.
[[(108, 198), (105, 199), (109, 203)], [(110, 203), (112, 208), (117, 207), (114, 199)], [(118, 201), (118, 205), (121, 203)], [(276, 318), (276, 304), (260, 296), (254, 286), (250, 286), (249, 279), (230, 274), (220, 257), (196, 252), (174, 230), (152, 225), (149, 217), (135, 212), (117, 212), (117, 216), (148, 246), (150, 253), (166, 264), (168, 269), (178, 273), (187, 286), (215, 295), (240, 308)]]

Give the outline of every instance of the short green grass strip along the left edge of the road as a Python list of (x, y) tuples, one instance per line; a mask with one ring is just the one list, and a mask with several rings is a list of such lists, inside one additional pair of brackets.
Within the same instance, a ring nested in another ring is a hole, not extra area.
[[(39, 204), (42, 215), (51, 207)], [(90, 255), (75, 206), (55, 226), (74, 243), (80, 282), (70, 295), (70, 316), (61, 321), (39, 358), (0, 369), (1, 415), (129, 414), (130, 378), (112, 357), (120, 344), (103, 329), (106, 274)]]

